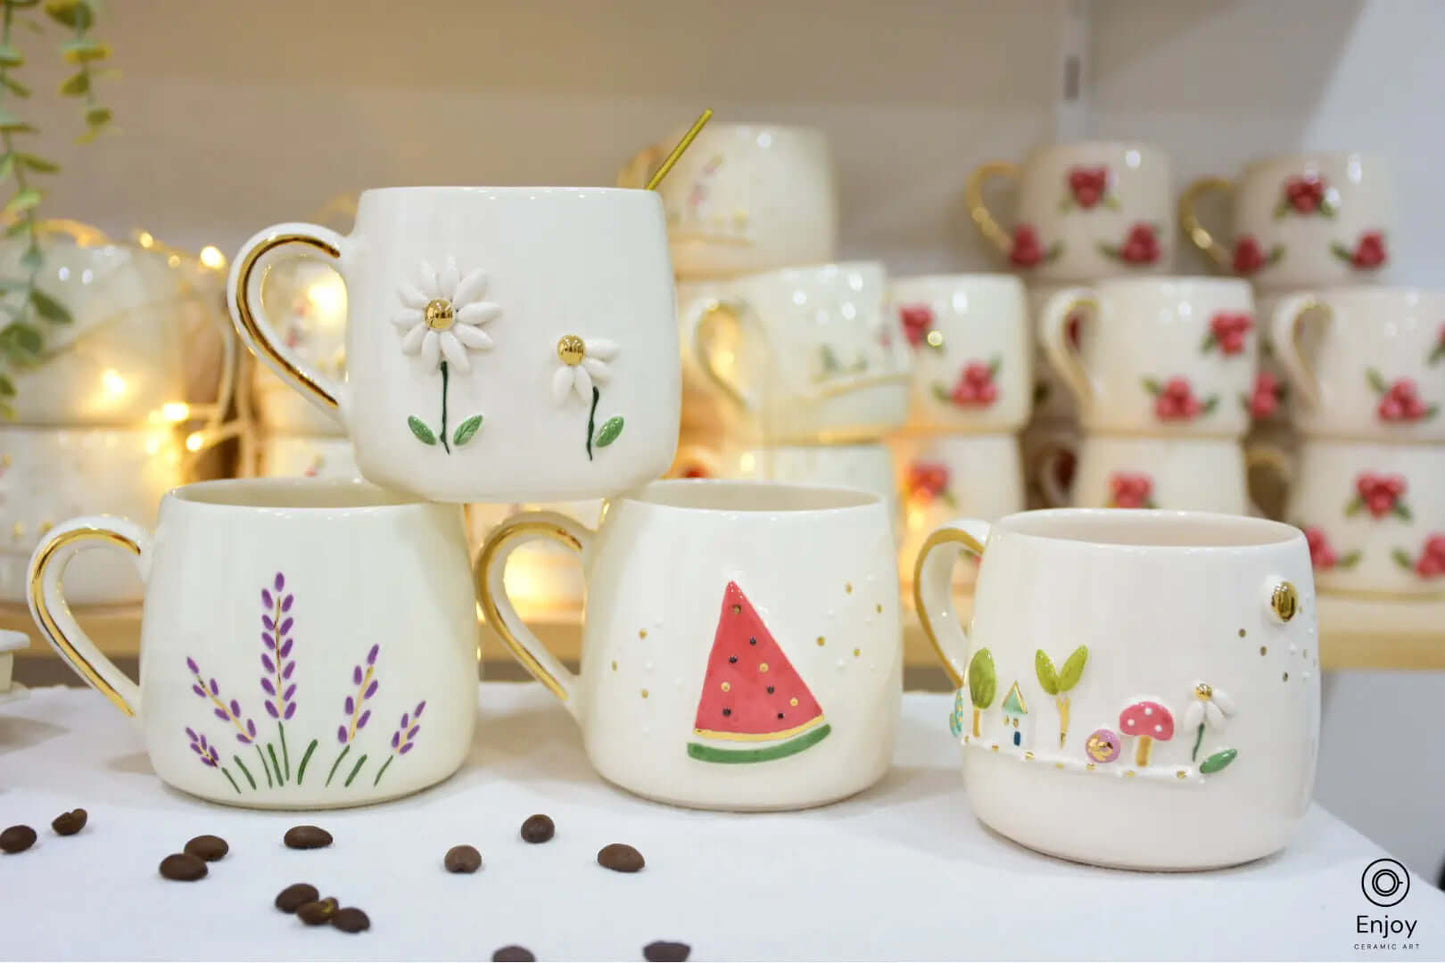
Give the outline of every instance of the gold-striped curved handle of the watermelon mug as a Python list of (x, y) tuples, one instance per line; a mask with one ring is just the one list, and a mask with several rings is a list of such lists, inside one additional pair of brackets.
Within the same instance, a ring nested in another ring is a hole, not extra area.
[(577, 674), (552, 655), (546, 643), (526, 626), (507, 596), (507, 560), (525, 542), (551, 539), (582, 554), (592, 541), (592, 532), (565, 515), (556, 512), (522, 512), (512, 516), (487, 536), (477, 555), (474, 571), (477, 602), (481, 604), (487, 625), (501, 636), (522, 667), (536, 681), (566, 706), (574, 717), (581, 717), (577, 707)]

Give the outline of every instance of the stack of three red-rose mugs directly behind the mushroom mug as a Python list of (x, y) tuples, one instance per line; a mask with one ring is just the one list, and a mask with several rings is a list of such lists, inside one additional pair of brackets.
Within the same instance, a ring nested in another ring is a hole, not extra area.
[[(1017, 185), (1012, 230), (987, 205), (994, 178)], [(1169, 275), (1170, 189), (1168, 155), (1140, 143), (1052, 145), (970, 178), (974, 223), (1029, 281), (1045, 363), (1026, 447), (1046, 503), (1248, 510), (1254, 305), (1244, 282)]]

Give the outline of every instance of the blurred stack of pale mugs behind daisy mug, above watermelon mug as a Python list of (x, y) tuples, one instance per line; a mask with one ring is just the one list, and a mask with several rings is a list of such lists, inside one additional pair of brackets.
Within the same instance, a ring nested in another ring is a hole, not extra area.
[[(672, 140), (663, 142), (672, 143)], [(663, 145), (620, 182), (642, 184)], [(883, 437), (909, 406), (909, 350), (877, 262), (837, 262), (828, 140), (711, 124), (659, 187), (678, 276), (682, 476), (858, 487), (897, 505)]]

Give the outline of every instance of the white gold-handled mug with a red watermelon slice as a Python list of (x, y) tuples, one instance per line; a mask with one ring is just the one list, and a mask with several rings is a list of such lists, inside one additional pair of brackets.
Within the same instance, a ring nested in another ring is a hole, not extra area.
[[(551, 538), (582, 555), (582, 667), (517, 617), (507, 557)], [(592, 766), (647, 798), (790, 810), (887, 771), (903, 646), (883, 502), (786, 484), (656, 482), (592, 532), (513, 518), (477, 561), (487, 623), (582, 729)]]

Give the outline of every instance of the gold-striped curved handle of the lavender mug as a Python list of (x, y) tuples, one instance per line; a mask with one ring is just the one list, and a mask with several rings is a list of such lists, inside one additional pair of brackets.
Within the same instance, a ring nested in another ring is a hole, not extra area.
[(140, 711), (140, 687), (85, 635), (71, 615), (62, 588), (71, 558), (101, 545), (129, 552), (142, 580), (150, 574), (152, 538), (146, 529), (123, 518), (87, 515), (56, 525), (35, 547), (25, 580), (26, 600), (40, 635), (61, 658), (116, 709), (136, 716)]

